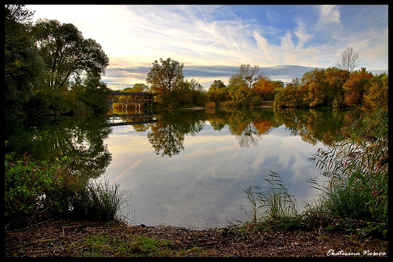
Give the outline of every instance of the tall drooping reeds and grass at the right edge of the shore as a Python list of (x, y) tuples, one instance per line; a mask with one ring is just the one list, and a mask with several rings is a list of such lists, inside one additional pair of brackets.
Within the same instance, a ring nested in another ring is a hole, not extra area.
[(319, 209), (333, 228), (364, 234), (388, 234), (388, 111), (368, 112), (345, 138), (311, 158), (328, 183)]

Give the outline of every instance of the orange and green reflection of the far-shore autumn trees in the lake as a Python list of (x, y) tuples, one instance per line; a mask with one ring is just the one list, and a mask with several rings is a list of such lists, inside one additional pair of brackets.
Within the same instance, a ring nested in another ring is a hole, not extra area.
[[(299, 135), (303, 141), (315, 146), (319, 142), (331, 145), (337, 135), (358, 118), (356, 111), (338, 109), (167, 110), (154, 114), (154, 122), (138, 122), (134, 129), (137, 132), (150, 129), (147, 138), (154, 152), (162, 157), (172, 157), (184, 151), (185, 136), (195, 136), (206, 121), (216, 131), (227, 125), (240, 147), (258, 146), (265, 135), (281, 125), (292, 135)], [(124, 118), (122, 122), (132, 124), (133, 121), (128, 119)]]

